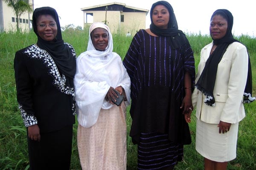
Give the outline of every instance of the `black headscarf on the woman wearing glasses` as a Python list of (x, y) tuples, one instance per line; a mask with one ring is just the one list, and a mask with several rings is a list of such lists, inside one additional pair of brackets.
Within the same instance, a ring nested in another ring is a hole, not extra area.
[[(51, 15), (57, 24), (57, 36), (54, 42), (45, 41), (38, 35), (37, 19), (39, 16), (46, 14)], [(58, 70), (62, 74), (64, 74), (66, 77), (74, 78), (76, 74), (76, 58), (73, 57), (70, 48), (67, 45), (64, 45), (61, 35), (60, 22), (55, 9), (51, 7), (36, 8), (32, 17), (32, 25), (34, 32), (38, 37), (38, 47), (46, 50), (50, 54), (57, 65)]]

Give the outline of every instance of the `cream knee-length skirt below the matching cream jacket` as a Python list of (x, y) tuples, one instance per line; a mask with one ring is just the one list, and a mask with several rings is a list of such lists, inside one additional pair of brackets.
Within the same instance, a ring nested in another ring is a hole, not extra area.
[(236, 158), (239, 123), (232, 124), (227, 133), (218, 133), (218, 124), (196, 121), (195, 149), (205, 158), (225, 162)]

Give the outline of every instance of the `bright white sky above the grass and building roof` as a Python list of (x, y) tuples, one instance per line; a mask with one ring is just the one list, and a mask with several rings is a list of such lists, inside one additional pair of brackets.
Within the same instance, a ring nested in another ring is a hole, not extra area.
[[(233, 35), (256, 37), (256, 0), (167, 0), (174, 9), (180, 30), (187, 34), (209, 35), (209, 23), (216, 9), (228, 9), (234, 17)], [(50, 6), (60, 17), (61, 26), (73, 24), (83, 27), (81, 8), (106, 3), (125, 3), (127, 6), (148, 9), (157, 0), (34, 0), (34, 8)], [(149, 12), (146, 28), (150, 25)]]

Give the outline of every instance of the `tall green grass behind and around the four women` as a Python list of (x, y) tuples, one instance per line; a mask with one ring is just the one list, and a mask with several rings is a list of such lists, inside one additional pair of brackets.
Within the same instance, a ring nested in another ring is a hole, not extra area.
[[(62, 34), (65, 42), (69, 42), (76, 50), (77, 56), (87, 49), (88, 29), (84, 31), (66, 30)], [(207, 35), (187, 35), (195, 53), (195, 65), (199, 63), (201, 48), (211, 42)], [(253, 72), (253, 94), (256, 94), (256, 39), (242, 35), (236, 37), (250, 54)], [(35, 43), (37, 37), (34, 32), (0, 33), (0, 169), (27, 170), (29, 157), (26, 142), (26, 128), (17, 107), (13, 59), (15, 52)], [(132, 37), (113, 35), (113, 51), (122, 58), (125, 56)], [(239, 124), (239, 138), (237, 144), (237, 158), (230, 161), (228, 170), (256, 170), (256, 102), (245, 104), (246, 117)], [(195, 114), (189, 124), (192, 144), (184, 147), (184, 160), (179, 162), (175, 170), (202, 170), (203, 157), (195, 151)], [(131, 117), (127, 109), (127, 169), (137, 170), (137, 146), (133, 145), (129, 137)], [(73, 131), (73, 154), (71, 169), (81, 170), (76, 143), (77, 122)]]

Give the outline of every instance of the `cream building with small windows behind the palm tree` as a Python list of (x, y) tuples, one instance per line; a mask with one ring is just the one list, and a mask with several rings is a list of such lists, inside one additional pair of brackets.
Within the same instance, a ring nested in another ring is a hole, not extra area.
[[(33, 6), (33, 0), (29, 0), (29, 4)], [(20, 18), (16, 18), (13, 9), (0, 0), (0, 31), (16, 31), (17, 20), (20, 31), (29, 31), (32, 28), (32, 13), (25, 12)]]

